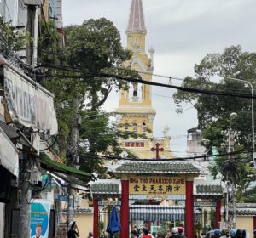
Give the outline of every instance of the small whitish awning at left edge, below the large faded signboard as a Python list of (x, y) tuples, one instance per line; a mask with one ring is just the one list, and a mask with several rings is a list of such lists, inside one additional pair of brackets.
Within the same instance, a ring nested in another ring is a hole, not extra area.
[(6, 168), (10, 173), (18, 178), (19, 157), (15, 145), (0, 127), (0, 166)]

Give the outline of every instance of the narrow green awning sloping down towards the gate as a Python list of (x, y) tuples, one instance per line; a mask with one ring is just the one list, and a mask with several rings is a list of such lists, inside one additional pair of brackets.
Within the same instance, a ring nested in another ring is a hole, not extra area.
[(45, 154), (41, 154), (38, 157), (38, 161), (41, 162), (41, 166), (44, 169), (56, 173), (58, 177), (66, 181), (68, 180), (70, 183), (84, 185), (84, 182), (87, 183), (90, 181), (90, 173), (53, 161)]

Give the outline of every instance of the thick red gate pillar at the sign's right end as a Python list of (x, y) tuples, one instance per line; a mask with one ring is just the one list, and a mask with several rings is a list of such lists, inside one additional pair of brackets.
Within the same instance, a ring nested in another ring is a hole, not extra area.
[(186, 179), (185, 233), (187, 238), (194, 237), (193, 181), (194, 181), (193, 177)]

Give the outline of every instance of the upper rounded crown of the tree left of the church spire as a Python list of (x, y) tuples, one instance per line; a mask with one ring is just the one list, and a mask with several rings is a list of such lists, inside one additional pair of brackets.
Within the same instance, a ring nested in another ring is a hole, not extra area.
[(94, 77), (93, 74), (121, 66), (125, 60), (131, 59), (131, 52), (122, 48), (119, 31), (105, 18), (84, 20), (82, 25), (68, 26), (65, 31), (68, 65), (91, 74), (91, 77), (81, 76), (78, 90), (81, 84), (85, 85), (79, 93), (87, 100), (85, 106), (95, 111), (106, 101), (112, 86), (120, 88), (121, 82), (109, 77)]

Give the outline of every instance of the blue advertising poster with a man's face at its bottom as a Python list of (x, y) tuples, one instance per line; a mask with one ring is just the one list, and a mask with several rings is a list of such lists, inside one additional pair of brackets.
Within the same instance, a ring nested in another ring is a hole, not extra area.
[(48, 238), (50, 201), (34, 200), (31, 204), (31, 238)]

